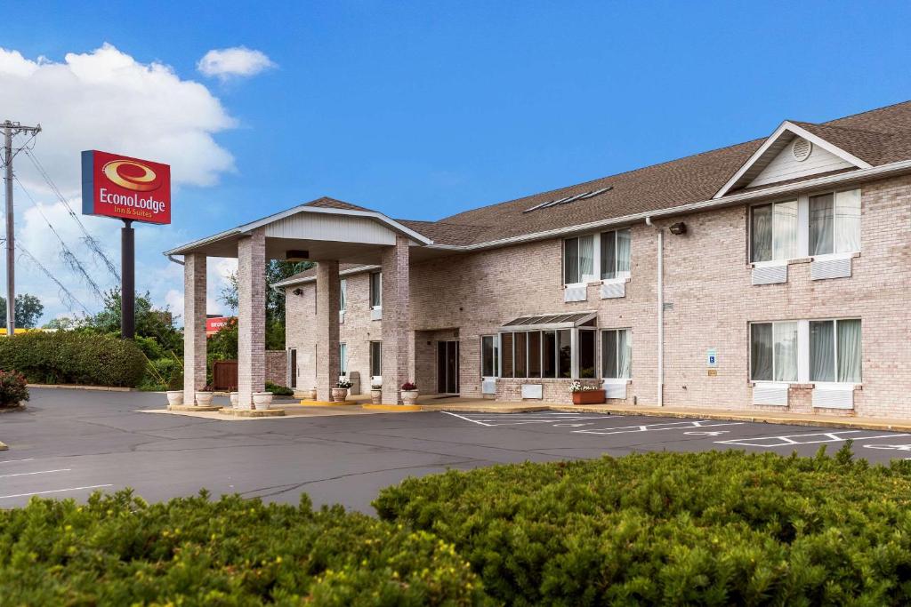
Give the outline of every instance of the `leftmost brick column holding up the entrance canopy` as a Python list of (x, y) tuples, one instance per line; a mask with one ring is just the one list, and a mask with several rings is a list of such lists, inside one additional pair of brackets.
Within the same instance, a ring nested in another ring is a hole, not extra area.
[(183, 258), (183, 404), (206, 385), (206, 256)]

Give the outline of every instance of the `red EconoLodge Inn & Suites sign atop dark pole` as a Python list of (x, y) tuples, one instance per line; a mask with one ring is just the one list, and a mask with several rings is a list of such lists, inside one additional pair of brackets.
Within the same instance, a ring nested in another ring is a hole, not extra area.
[(170, 223), (170, 167), (97, 150), (82, 153), (82, 213)]

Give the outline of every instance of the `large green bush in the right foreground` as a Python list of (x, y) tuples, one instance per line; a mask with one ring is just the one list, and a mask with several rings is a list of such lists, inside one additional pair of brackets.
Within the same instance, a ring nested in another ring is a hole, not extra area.
[(898, 605), (909, 464), (650, 453), (450, 471), (374, 506), (455, 544), (507, 604)]

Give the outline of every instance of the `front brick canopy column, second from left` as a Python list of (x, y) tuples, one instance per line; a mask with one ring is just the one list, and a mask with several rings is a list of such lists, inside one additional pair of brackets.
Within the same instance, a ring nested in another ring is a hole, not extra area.
[(238, 407), (251, 409), (266, 382), (266, 233), (257, 228), (237, 245)]

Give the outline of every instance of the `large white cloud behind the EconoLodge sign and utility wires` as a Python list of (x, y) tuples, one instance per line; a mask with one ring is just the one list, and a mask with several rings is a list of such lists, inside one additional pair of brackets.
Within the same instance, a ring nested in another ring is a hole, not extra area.
[[(219, 99), (206, 86), (180, 78), (169, 66), (140, 63), (111, 45), (89, 53), (68, 53), (62, 62), (29, 59), (16, 50), (0, 48), (0, 107), (3, 117), (26, 125), (41, 124), (44, 130), (36, 139), (34, 153), (77, 213), (79, 152), (84, 149), (167, 163), (176, 188), (211, 186), (220, 175), (234, 170), (230, 152), (213, 138), (235, 126)], [(19, 136), (16, 140), (21, 144), (25, 139)], [(82, 233), (76, 222), (25, 155), (17, 157), (15, 168), (17, 177), (99, 286), (118, 287), (80, 241)], [(22, 191), (16, 193), (16, 207), (19, 241), (88, 309), (96, 311), (100, 302), (92, 289), (81, 284), (60, 259), (59, 241)], [(84, 216), (80, 220), (106, 248), (107, 257), (119, 265), (119, 222)], [(137, 230), (137, 250), (152, 252), (137, 258), (137, 288), (148, 288), (159, 305), (166, 303), (169, 290), (182, 290), (182, 268), (158, 255), (174, 242), (187, 239), (181, 232), (173, 226)], [(41, 298), (47, 319), (67, 312), (56, 285), (26, 260), (20, 258), (20, 262), (17, 292)]]

